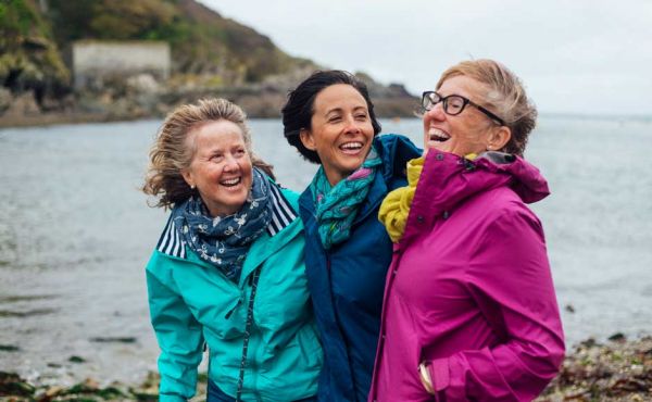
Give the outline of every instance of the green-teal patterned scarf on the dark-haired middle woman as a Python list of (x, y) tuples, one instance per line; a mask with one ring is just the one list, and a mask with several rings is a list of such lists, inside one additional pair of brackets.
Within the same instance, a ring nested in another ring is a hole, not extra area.
[(318, 233), (324, 249), (329, 250), (349, 238), (358, 209), (368, 194), (381, 163), (383, 160), (372, 147), (362, 166), (335, 187), (328, 183), (324, 166), (319, 167), (310, 189), (317, 210)]

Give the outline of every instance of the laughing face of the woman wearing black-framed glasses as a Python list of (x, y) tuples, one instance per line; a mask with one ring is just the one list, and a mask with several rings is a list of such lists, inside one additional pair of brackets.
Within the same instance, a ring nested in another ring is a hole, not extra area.
[[(437, 92), (442, 98), (460, 95), (482, 104), (480, 93), (484, 89), (482, 83), (457, 75), (444, 80)], [(460, 156), (479, 154), (487, 150), (500, 150), (510, 139), (507, 127), (499, 126), (472, 105), (466, 105), (462, 113), (451, 116), (443, 112), (443, 104), (438, 103), (424, 114), (423, 122), (426, 152), (436, 149)]]

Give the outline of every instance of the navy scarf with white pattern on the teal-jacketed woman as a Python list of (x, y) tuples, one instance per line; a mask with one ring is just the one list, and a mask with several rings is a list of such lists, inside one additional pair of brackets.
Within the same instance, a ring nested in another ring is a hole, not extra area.
[(180, 238), (203, 261), (216, 266), (234, 282), (240, 280), (249, 247), (272, 221), (272, 184), (258, 168), (251, 191), (240, 211), (211, 217), (200, 197), (193, 196), (173, 211)]

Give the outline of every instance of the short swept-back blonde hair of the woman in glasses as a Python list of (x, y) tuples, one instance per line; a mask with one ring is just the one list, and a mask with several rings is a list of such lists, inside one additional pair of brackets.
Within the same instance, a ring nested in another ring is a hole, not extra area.
[(468, 60), (443, 72), (437, 83), (437, 89), (447, 79), (460, 75), (486, 85), (485, 93), (480, 90), (484, 99), (475, 101), (501, 117), (512, 131), (512, 138), (503, 151), (523, 155), (528, 136), (537, 124), (537, 108), (527, 98), (521, 79), (507, 67), (493, 60)]

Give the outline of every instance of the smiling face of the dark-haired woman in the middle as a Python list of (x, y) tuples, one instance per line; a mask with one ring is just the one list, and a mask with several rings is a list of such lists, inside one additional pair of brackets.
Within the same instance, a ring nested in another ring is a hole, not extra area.
[(324, 88), (315, 98), (310, 129), (300, 133), (303, 146), (319, 155), (331, 186), (364, 162), (374, 139), (367, 103), (350, 85)]

